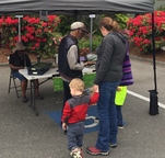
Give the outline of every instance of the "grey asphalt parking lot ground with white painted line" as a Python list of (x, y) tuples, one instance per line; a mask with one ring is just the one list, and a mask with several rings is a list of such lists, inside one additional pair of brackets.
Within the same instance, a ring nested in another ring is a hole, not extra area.
[[(122, 106), (125, 128), (119, 129), (118, 146), (109, 158), (165, 158), (165, 65), (156, 64), (157, 115), (150, 115), (150, 93), (154, 89), (153, 63), (131, 57), (134, 83), (128, 87)], [(67, 136), (43, 111), (61, 109), (62, 92), (54, 92), (52, 80), (40, 86), (44, 100), (37, 100), (39, 116), (28, 103), (22, 103), (15, 91), (8, 93), (9, 67), (0, 67), (0, 158), (69, 158)], [(20, 93), (21, 94), (21, 93)], [(30, 95), (30, 91), (27, 91)], [(97, 132), (84, 135), (85, 148), (95, 145)]]

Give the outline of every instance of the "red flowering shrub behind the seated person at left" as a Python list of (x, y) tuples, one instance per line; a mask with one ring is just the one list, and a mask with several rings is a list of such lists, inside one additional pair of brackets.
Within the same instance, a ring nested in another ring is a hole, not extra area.
[[(21, 19), (21, 41), (32, 53), (45, 57), (55, 55), (58, 38), (55, 32), (60, 22), (57, 15), (48, 15), (48, 21), (42, 21), (37, 16), (23, 16)], [(13, 48), (19, 41), (19, 20), (15, 16), (2, 16), (0, 19), (2, 43)]]

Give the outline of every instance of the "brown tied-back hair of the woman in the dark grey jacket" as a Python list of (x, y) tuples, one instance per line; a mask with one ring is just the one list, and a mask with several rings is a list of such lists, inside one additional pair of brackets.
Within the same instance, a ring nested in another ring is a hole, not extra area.
[(104, 26), (107, 31), (119, 32), (119, 24), (111, 18), (103, 18), (99, 22), (99, 27)]

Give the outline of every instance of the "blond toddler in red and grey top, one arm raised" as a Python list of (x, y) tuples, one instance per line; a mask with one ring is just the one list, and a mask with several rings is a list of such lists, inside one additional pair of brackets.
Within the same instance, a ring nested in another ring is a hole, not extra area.
[(93, 95), (83, 94), (84, 82), (74, 78), (69, 83), (72, 98), (66, 102), (62, 113), (62, 128), (67, 129), (68, 149), (71, 150), (71, 157), (79, 156), (82, 158), (82, 146), (84, 135), (84, 121), (89, 105), (98, 101), (98, 89)]

